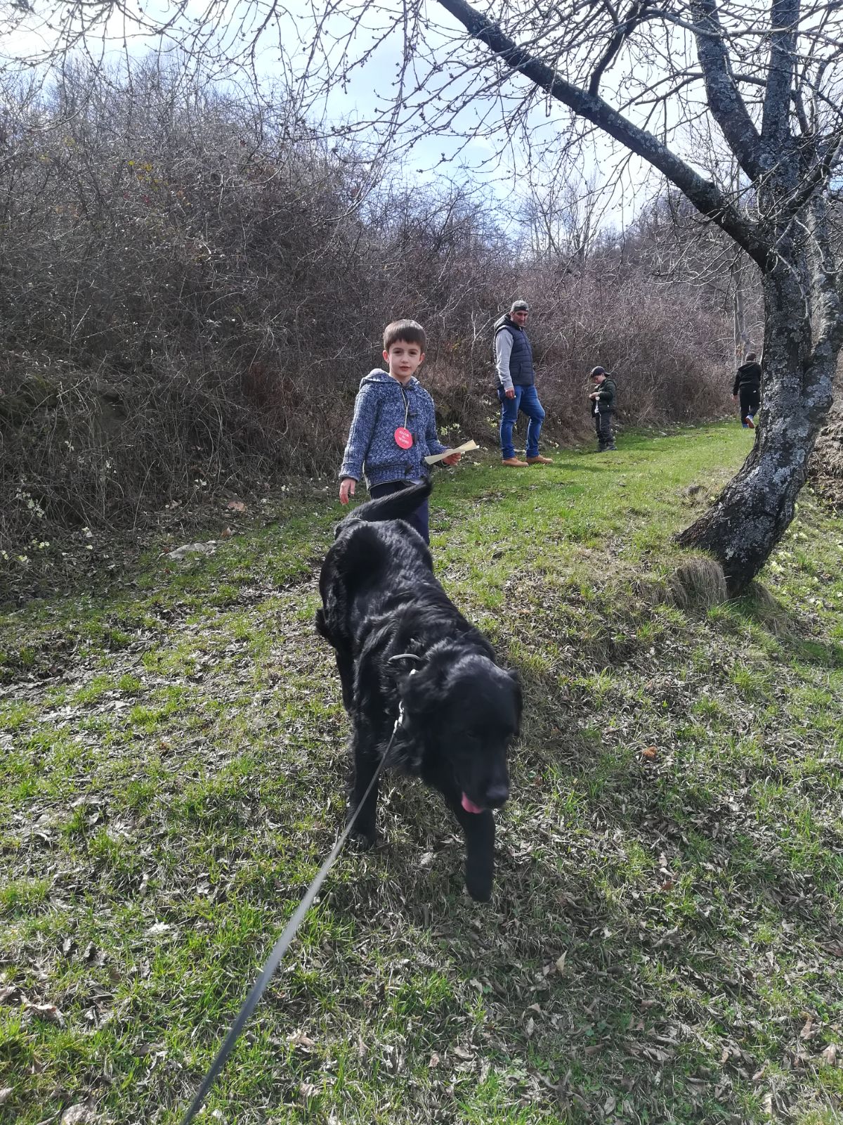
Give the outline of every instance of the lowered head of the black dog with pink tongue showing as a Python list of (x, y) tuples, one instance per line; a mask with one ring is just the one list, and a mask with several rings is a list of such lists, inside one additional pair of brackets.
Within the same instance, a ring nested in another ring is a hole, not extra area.
[(509, 796), (507, 754), (518, 735), (518, 677), (480, 652), (433, 651), (401, 676), (406, 721), (426, 764), (451, 770), (466, 812)]

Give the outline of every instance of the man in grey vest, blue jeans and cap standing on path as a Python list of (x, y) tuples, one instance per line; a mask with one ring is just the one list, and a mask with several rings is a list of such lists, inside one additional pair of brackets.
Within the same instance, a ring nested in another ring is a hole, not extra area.
[[(495, 322), (495, 367), (498, 372), (498, 398), (500, 399), (500, 456), (502, 464), (513, 469), (525, 469), (528, 465), (552, 465), (550, 457), (538, 452), (538, 435), (542, 432), (544, 411), (538, 402), (533, 370), (533, 349), (529, 346), (524, 325), (529, 315), (526, 300), (513, 302), (513, 307)], [(515, 456), (513, 426), (518, 411), (527, 415), (527, 459)]]

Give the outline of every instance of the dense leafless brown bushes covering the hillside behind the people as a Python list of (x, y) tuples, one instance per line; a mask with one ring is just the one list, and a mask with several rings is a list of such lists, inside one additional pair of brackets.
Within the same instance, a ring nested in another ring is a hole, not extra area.
[(559, 433), (582, 429), (598, 361), (627, 422), (724, 403), (720, 314), (665, 291), (645, 246), (631, 261), (602, 236), (575, 269), (540, 260), (479, 190), (386, 179), (287, 102), (188, 72), (7, 88), (0, 189), (7, 547), (34, 519), (128, 524), (197, 487), (333, 470), (396, 316), (427, 327), (443, 418), (475, 438), (492, 434), (490, 327), (514, 296), (534, 304)]

